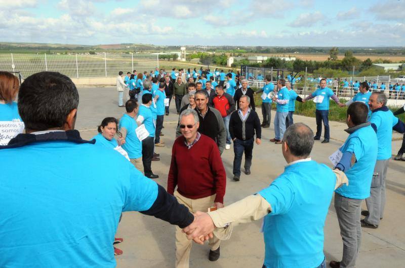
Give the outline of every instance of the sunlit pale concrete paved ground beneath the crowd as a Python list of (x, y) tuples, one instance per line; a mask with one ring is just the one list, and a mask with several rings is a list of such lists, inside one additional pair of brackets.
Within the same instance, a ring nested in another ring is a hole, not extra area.
[[(76, 129), (82, 136), (90, 139), (96, 134), (96, 126), (107, 116), (121, 117), (124, 108), (117, 107), (117, 92), (113, 87), (80, 88), (80, 105)], [(166, 147), (156, 149), (160, 153), (160, 162), (152, 162), (152, 170), (160, 177), (156, 181), (166, 187), (167, 175), (171, 159), (171, 146), (174, 140), (175, 126), (178, 116), (173, 113), (165, 117), (164, 141)], [(259, 114), (261, 114), (259, 112)], [(275, 112), (272, 112), (274, 117)], [(315, 129), (315, 119), (294, 116), (295, 122), (303, 122)], [(332, 154), (348, 136), (342, 123), (330, 122), (331, 142), (321, 144), (315, 142), (312, 158), (320, 163), (331, 166), (328, 156)], [(242, 173), (239, 182), (232, 181), (233, 149), (222, 154), (227, 173), (225, 205), (230, 204), (269, 185), (277, 175), (284, 171), (285, 160), (280, 145), (268, 140), (274, 136), (273, 125), (263, 129), (262, 144), (255, 145), (253, 151), (252, 174)], [(400, 147), (400, 138), (394, 134), (392, 142), (393, 154)], [(405, 162), (391, 160), (387, 175), (387, 204), (384, 219), (376, 230), (363, 229), (362, 244), (357, 260), (357, 267), (403, 267), (405, 263), (405, 232), (403, 223), (405, 213), (405, 183), (403, 173)], [(363, 202), (363, 207), (366, 207)], [(305, 213), (305, 211), (302, 211)], [(193, 245), (190, 255), (190, 267), (261, 267), (264, 258), (264, 243), (259, 232), (261, 221), (240, 225), (235, 228), (230, 240), (221, 245), (221, 257), (210, 262), (207, 245)], [(174, 227), (152, 217), (143, 216), (138, 212), (126, 212), (119, 224), (117, 236), (124, 242), (119, 248), (124, 254), (117, 256), (118, 267), (174, 267), (175, 237)], [(325, 224), (324, 252), (327, 261), (340, 260), (342, 255), (342, 239), (336, 218), (333, 201)]]

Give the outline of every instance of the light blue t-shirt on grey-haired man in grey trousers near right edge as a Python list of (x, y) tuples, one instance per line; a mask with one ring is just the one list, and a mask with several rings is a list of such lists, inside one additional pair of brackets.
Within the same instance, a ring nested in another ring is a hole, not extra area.
[[(383, 106), (383, 108), (384, 107), (385, 106)], [(386, 109), (388, 110), (388, 108)], [(392, 127), (398, 123), (398, 118), (396, 118), (390, 110), (386, 112), (376, 111), (371, 114), (370, 123), (377, 127), (377, 160), (391, 158)]]

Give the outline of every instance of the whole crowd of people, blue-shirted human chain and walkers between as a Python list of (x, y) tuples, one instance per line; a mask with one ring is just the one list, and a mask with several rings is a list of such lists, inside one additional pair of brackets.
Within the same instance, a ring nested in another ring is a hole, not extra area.
[[(354, 267), (361, 227), (376, 229), (384, 217), (392, 131), (405, 132), (387, 108), (386, 95), (363, 82), (353, 99), (341, 103), (321, 78), (319, 88), (303, 99), (282, 78), (274, 86), (264, 77), (264, 87), (255, 92), (249, 77), (231, 70), (200, 71), (174, 68), (169, 74), (156, 68), (125, 77), (119, 72), (118, 106), (126, 113), (119, 120), (103, 119), (91, 141), (74, 130), (79, 98), (68, 77), (41, 72), (19, 85), (14, 75), (0, 72), (0, 266), (115, 266), (114, 254), (123, 253), (114, 247), (123, 241), (115, 238), (121, 213), (139, 211), (176, 225), (176, 267), (189, 266), (191, 240), (208, 240), (209, 259), (216, 261), (221, 240), (231, 238), (235, 225), (261, 218), (263, 267), (325, 267), (323, 226), (334, 195), (343, 255), (329, 265)], [(262, 122), (255, 111), (257, 94)], [(172, 98), (178, 126), (176, 134), (163, 134)], [(330, 157), (333, 169), (310, 157), (322, 122), (322, 143), (329, 142), (330, 98), (347, 107), (349, 134)], [(316, 103), (315, 134), (293, 122), (295, 101), (310, 99)], [(233, 181), (240, 180), (244, 153), (244, 173), (251, 174), (254, 143), (263, 146), (272, 102), (270, 141), (280, 144), (285, 171), (268, 187), (225, 206), (221, 154), (233, 144)], [(395, 115), (400, 113), (403, 108)], [(160, 160), (155, 148), (166, 146), (164, 135), (174, 139), (166, 190), (152, 172), (152, 162)], [(399, 160), (405, 160), (404, 144), (405, 135)], [(10, 168), (15, 159), (24, 165)], [(361, 211), (363, 200), (368, 210)]]

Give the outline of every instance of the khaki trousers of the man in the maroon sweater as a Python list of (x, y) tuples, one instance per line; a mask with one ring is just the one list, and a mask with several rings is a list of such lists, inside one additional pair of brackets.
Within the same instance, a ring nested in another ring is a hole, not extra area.
[[(213, 206), (215, 200), (215, 194), (204, 198), (190, 199), (175, 191), (174, 196), (180, 204), (185, 205), (192, 213), (196, 211), (207, 212), (208, 208)], [(220, 242), (221, 240), (214, 236), (209, 240), (210, 249), (218, 249)], [(176, 226), (176, 267), (188, 268), (191, 245), (192, 240), (188, 240), (181, 228)]]

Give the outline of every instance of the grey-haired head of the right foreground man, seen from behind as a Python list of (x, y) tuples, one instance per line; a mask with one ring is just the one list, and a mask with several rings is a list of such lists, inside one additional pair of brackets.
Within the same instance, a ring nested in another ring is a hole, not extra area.
[(284, 141), (294, 156), (307, 158), (313, 146), (313, 132), (303, 123), (289, 126), (284, 132)]

